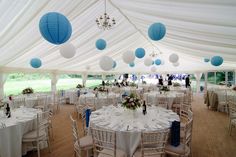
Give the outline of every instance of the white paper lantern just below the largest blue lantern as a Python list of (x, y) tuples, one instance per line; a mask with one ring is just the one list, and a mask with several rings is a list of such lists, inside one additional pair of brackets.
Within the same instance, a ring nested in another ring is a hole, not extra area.
[(76, 53), (75, 47), (71, 43), (63, 44), (60, 47), (60, 54), (64, 58), (67, 58), (67, 59), (72, 58), (74, 57), (75, 53)]

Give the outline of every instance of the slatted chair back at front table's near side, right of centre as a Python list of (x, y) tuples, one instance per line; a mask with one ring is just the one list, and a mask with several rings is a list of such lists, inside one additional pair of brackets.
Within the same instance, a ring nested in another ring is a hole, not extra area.
[(141, 154), (145, 156), (161, 156), (165, 153), (169, 130), (141, 133)]

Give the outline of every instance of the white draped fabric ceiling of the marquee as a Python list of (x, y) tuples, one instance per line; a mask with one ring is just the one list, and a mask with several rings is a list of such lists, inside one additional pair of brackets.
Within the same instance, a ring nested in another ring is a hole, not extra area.
[[(45, 41), (39, 32), (39, 20), (47, 12), (60, 12), (71, 22), (70, 41), (76, 55), (63, 58), (59, 47)], [(203, 72), (236, 69), (236, 1), (235, 0), (107, 0), (107, 13), (117, 24), (108, 31), (98, 29), (95, 19), (104, 13), (103, 0), (0, 0), (0, 71), (102, 74), (99, 59), (110, 56), (117, 67), (105, 73), (151, 73), (144, 58), (136, 58), (131, 68), (122, 60), (122, 53), (153, 50), (164, 65), (157, 73)], [(148, 38), (148, 27), (155, 22), (165, 24), (166, 36), (161, 41)], [(107, 41), (99, 51), (97, 39)], [(174, 67), (168, 57), (179, 55), (180, 65)], [(220, 67), (205, 63), (205, 57), (224, 58)], [(33, 69), (31, 58), (42, 60), (40, 69)], [(90, 66), (87, 70), (86, 66)]]

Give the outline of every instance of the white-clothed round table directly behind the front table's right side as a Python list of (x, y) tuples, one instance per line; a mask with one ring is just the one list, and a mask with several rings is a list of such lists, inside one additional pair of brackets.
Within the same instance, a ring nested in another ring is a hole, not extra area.
[(159, 97), (166, 97), (168, 108), (171, 109), (177, 95), (184, 98), (184, 93), (179, 93), (179, 92), (175, 92), (175, 91), (168, 91), (166, 93), (162, 92), (162, 94), (160, 94), (160, 92), (144, 93), (144, 99), (146, 101), (152, 102), (153, 105), (155, 105), (155, 104), (157, 104), (156, 99), (158, 99)]

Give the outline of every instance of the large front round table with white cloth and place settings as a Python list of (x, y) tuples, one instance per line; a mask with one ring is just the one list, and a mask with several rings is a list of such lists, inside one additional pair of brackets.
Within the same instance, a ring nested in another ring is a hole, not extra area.
[(92, 112), (90, 127), (116, 131), (117, 148), (131, 157), (141, 141), (141, 131), (168, 129), (173, 121), (180, 121), (179, 116), (161, 107), (147, 107), (143, 115), (142, 108), (132, 111), (110, 105)]

